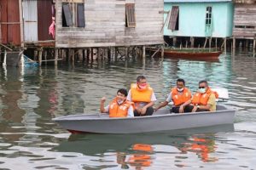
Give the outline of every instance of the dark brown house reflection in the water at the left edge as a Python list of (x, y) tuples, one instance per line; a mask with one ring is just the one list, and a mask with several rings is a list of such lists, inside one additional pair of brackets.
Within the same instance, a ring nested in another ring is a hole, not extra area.
[[(14, 67), (6, 71), (1, 77), (0, 84), (0, 111), (1, 111), (1, 133), (7, 134), (4, 139), (15, 141), (20, 138), (20, 126), (23, 121), (25, 111), (20, 108), (20, 99), (22, 99), (22, 77), (20, 68)], [(2, 106), (3, 105), (3, 106)]]

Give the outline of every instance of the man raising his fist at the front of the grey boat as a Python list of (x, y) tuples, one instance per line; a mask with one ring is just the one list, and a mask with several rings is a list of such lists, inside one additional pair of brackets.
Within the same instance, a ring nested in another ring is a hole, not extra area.
[(126, 100), (127, 90), (121, 88), (109, 105), (104, 107), (105, 97), (101, 99), (101, 112), (108, 113), (109, 117), (133, 117), (133, 103)]

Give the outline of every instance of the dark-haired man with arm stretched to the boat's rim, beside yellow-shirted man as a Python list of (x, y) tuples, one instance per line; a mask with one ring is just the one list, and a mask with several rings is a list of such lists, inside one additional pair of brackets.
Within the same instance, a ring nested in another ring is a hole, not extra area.
[(168, 95), (166, 101), (161, 103), (155, 108), (155, 111), (159, 110), (162, 107), (165, 107), (170, 103), (173, 102), (171, 112), (174, 113), (183, 113), (183, 112), (190, 112), (189, 107), (180, 107), (185, 102), (191, 99), (191, 92), (189, 88), (185, 87), (185, 81), (182, 78), (177, 79), (176, 87), (171, 89), (171, 93)]

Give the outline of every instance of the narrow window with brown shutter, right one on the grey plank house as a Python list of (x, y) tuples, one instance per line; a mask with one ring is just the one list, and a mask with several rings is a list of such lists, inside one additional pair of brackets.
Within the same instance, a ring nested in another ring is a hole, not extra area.
[(133, 28), (136, 26), (134, 3), (125, 4), (125, 26)]

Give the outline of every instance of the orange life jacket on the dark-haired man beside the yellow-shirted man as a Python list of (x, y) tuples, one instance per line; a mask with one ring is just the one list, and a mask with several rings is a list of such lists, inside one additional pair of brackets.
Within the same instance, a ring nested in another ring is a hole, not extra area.
[(182, 105), (183, 103), (191, 99), (191, 92), (189, 91), (188, 88), (184, 88), (182, 94), (177, 91), (177, 88), (172, 88), (171, 92), (172, 92), (172, 101), (176, 106)]

